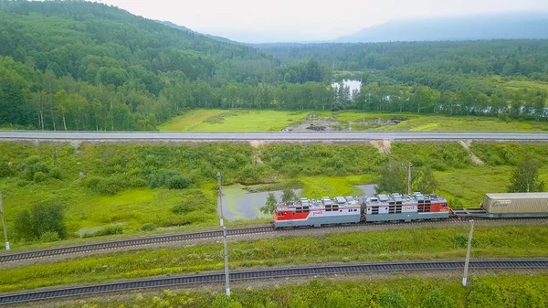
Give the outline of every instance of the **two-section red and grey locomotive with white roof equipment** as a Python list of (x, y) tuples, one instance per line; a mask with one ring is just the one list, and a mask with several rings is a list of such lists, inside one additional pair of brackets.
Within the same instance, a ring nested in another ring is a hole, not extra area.
[(320, 200), (300, 198), (282, 203), (273, 212), (274, 228), (350, 224), (361, 221), (412, 221), (449, 218), (448, 201), (443, 196), (377, 195), (365, 198), (327, 196)]

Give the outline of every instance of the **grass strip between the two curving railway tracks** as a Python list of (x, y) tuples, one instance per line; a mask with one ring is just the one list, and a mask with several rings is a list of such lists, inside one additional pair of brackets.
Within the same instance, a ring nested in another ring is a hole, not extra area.
[[(460, 259), (466, 254), (468, 225), (323, 236), (282, 237), (229, 244), (230, 268), (319, 262)], [(548, 228), (478, 227), (472, 258), (545, 257)], [(222, 270), (222, 245), (184, 249), (134, 250), (0, 270), (0, 292), (53, 285)]]

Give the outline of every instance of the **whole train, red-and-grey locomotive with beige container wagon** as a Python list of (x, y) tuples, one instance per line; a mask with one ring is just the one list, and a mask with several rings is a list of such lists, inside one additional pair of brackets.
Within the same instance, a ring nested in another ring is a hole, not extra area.
[(272, 212), (274, 228), (321, 227), (362, 222), (416, 221), (448, 218), (548, 218), (548, 193), (486, 194), (479, 207), (451, 208), (445, 196), (323, 196), (279, 203)]

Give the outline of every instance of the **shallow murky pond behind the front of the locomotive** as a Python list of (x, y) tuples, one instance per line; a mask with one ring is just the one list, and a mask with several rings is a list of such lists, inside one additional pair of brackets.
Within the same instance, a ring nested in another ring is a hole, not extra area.
[[(356, 186), (364, 192), (364, 195), (374, 195), (374, 185), (358, 185)], [(300, 195), (302, 189), (294, 189), (297, 196)], [(277, 199), (281, 199), (281, 190), (272, 192)], [(237, 219), (253, 219), (253, 218), (269, 218), (270, 214), (261, 213), (258, 208), (265, 205), (269, 192), (249, 193), (244, 189), (244, 186), (226, 186), (223, 188), (223, 211), (225, 218), (229, 221)], [(334, 197), (334, 196), (331, 196)], [(316, 196), (321, 198), (321, 196)], [(220, 208), (217, 207), (217, 213), (220, 213)]]

